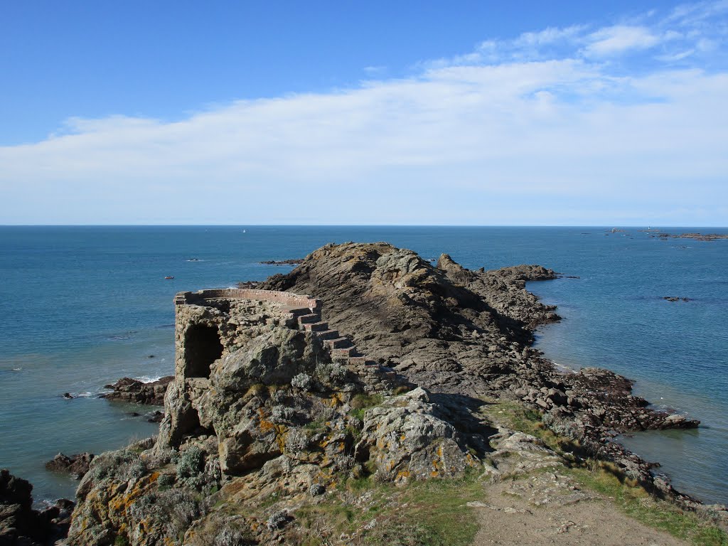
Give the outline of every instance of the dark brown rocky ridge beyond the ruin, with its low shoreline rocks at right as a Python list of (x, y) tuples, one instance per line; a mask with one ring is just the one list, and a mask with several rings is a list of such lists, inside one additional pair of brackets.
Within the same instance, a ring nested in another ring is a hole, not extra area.
[(526, 282), (556, 277), (542, 266), (471, 271), (446, 254), (432, 266), (386, 243), (346, 243), (316, 250), (260, 288), (314, 294), (328, 323), (412, 383), (521, 400), (578, 440), (582, 454), (614, 460), (652, 486), (650, 465), (614, 436), (698, 422), (633, 397), (631, 381), (616, 373), (562, 373), (530, 347), (533, 328), (558, 315), (526, 291)]

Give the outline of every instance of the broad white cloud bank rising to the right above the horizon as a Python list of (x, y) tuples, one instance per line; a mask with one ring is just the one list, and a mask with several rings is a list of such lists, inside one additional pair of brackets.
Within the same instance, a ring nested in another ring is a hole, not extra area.
[(723, 4), (174, 123), (69, 119), (0, 148), (0, 223), (715, 223), (728, 67), (706, 68), (700, 43), (720, 58), (725, 20), (700, 14)]

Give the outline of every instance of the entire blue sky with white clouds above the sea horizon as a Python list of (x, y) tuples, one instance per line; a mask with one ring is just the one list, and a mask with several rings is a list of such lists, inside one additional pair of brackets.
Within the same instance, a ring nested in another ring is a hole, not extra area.
[(0, 223), (727, 225), (728, 1), (590, 4), (4, 2)]

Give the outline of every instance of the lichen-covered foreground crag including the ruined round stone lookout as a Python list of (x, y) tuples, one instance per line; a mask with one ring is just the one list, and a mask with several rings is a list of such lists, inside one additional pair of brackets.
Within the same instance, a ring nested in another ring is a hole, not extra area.
[(462, 476), (480, 464), (491, 430), (369, 360), (321, 320), (317, 300), (227, 290), (177, 301), (159, 437), (92, 461), (69, 544), (210, 544), (220, 531), (213, 505), (245, 509), (240, 529), (274, 543), (292, 518), (266, 499), (295, 502), (367, 476)]

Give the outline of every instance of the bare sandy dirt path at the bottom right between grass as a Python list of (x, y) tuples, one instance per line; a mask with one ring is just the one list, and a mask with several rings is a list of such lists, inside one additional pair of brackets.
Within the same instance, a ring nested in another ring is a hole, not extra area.
[(638, 523), (557, 472), (496, 483), (486, 492), (484, 502), (468, 503), (480, 519), (473, 546), (688, 544)]

